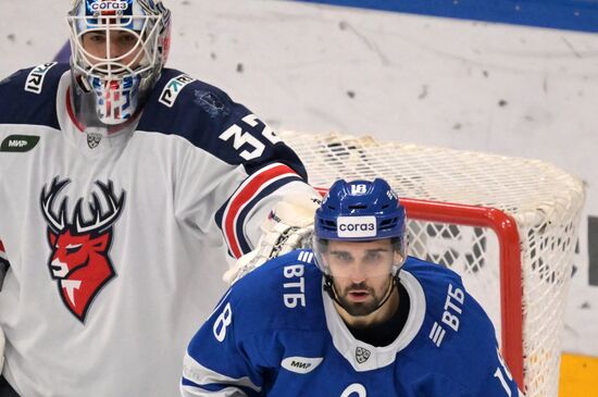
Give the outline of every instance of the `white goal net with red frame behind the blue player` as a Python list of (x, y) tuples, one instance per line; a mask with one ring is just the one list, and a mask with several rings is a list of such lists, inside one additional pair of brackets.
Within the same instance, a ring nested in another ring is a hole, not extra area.
[[(282, 132), (310, 184), (384, 177), (408, 214), (409, 253), (457, 271), (493, 321), (527, 397), (557, 397), (584, 185), (538, 160)], [(522, 382), (523, 380), (523, 382)]]

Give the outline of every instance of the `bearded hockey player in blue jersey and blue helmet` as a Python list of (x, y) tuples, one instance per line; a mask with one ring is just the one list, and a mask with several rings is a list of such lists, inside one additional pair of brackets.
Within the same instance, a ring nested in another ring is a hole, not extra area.
[(385, 181), (337, 181), (313, 250), (239, 280), (191, 339), (182, 395), (518, 396), (490, 320), (456, 273), (406, 257), (404, 226)]

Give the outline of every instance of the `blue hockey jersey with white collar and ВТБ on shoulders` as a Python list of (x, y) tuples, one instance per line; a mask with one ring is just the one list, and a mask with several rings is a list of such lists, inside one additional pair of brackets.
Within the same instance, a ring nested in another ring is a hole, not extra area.
[(409, 258), (410, 310), (399, 336), (356, 339), (309, 250), (235, 284), (191, 339), (183, 396), (518, 396), (490, 320), (454, 272)]

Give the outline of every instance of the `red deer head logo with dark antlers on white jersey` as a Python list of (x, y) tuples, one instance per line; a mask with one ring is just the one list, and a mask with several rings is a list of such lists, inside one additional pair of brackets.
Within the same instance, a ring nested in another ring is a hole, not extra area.
[(83, 198), (77, 200), (73, 216), (68, 218), (66, 198), (60, 204), (58, 214), (52, 208), (58, 194), (70, 182), (55, 177), (48, 189), (45, 186), (41, 190), (40, 203), (52, 249), (48, 261), (50, 273), (58, 282), (66, 308), (84, 322), (96, 295), (115, 275), (108, 252), (112, 241), (112, 226), (123, 210), (125, 193), (116, 197), (112, 182), (103, 184), (97, 181), (96, 185), (108, 208), (103, 210), (100, 198), (92, 193), (92, 200), (88, 203), (92, 219), (84, 220)]

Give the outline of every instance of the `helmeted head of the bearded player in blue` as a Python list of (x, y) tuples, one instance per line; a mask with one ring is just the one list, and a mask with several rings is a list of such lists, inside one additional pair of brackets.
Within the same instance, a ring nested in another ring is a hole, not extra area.
[[(384, 179), (339, 179), (315, 212), (313, 239), (316, 264), (331, 298), (352, 315), (369, 314), (390, 297), (406, 260), (404, 208)], [(383, 294), (367, 310), (352, 312), (339, 285), (363, 282), (361, 289), (367, 291), (369, 281), (384, 283)]]

